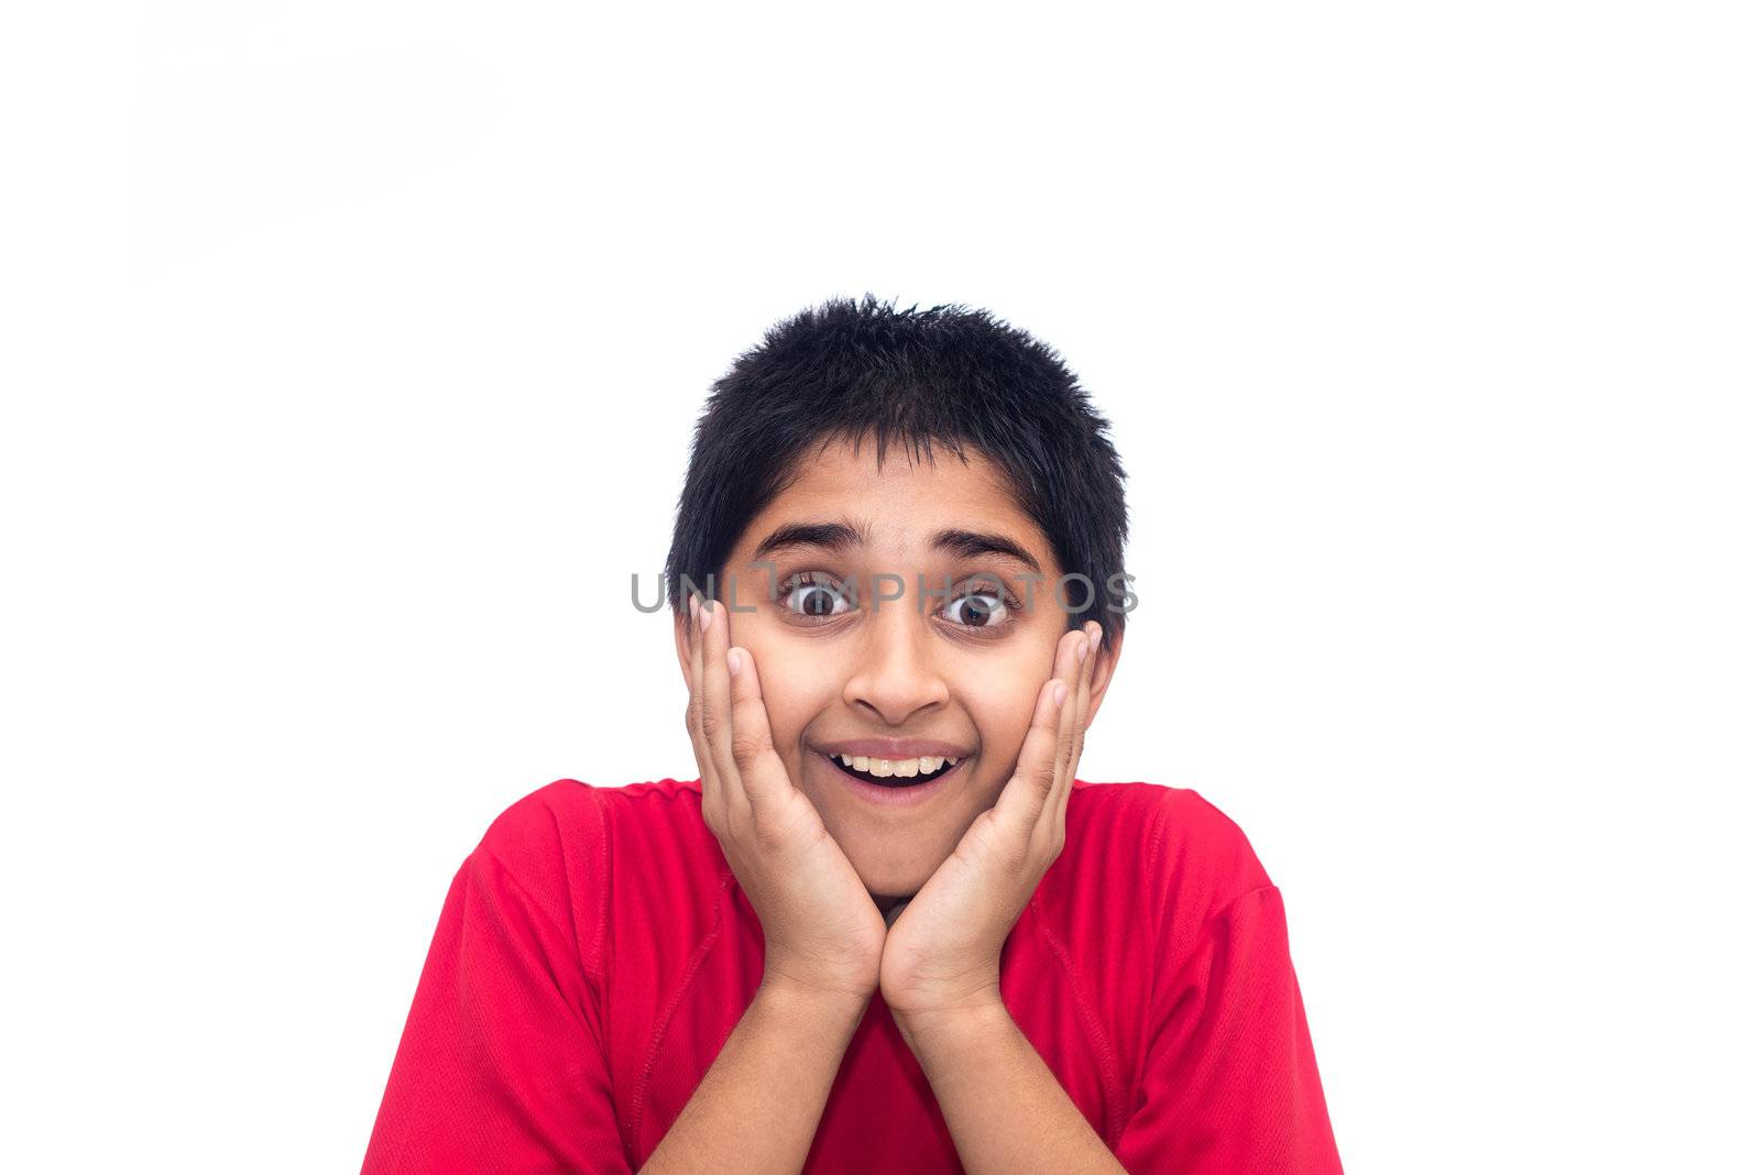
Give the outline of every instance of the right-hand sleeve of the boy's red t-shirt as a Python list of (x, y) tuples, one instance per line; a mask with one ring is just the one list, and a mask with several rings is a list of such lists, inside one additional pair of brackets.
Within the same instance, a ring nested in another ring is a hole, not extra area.
[(1277, 887), (1229, 901), (1182, 953), (1150, 996), (1143, 1098), (1115, 1147), (1120, 1164), (1338, 1171)]

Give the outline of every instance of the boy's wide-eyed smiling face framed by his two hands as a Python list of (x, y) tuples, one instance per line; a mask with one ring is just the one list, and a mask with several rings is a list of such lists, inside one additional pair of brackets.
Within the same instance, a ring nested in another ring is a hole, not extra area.
[[(995, 806), (1071, 626), (1053, 593), (1064, 570), (1039, 526), (1014, 505), (995, 464), (970, 450), (967, 461), (947, 449), (912, 461), (905, 445), (889, 445), (877, 473), (872, 449), (842, 440), (822, 454), (810, 447), (798, 477), (740, 535), (726, 580), (715, 584), (731, 605), (731, 644), (752, 653), (789, 777), (877, 899), (916, 894)], [(851, 526), (856, 538), (761, 549), (780, 528), (828, 522)], [(962, 552), (947, 531), (1002, 538), (1037, 568), (995, 551), (969, 554), (970, 540)], [(1043, 579), (1032, 582), (1028, 609), (1023, 577), (1035, 570)], [(984, 605), (1002, 600), (995, 580), (1016, 607), (986, 616)], [(930, 595), (949, 584), (951, 595)], [(1069, 593), (1083, 602), (1079, 582)], [(676, 635), (689, 688), (683, 621)], [(1078, 716), (1085, 726), (1118, 644), (1097, 651), (1088, 714)], [(958, 749), (962, 762), (917, 785), (916, 802), (884, 804), (826, 753), (859, 739), (925, 739)]]

